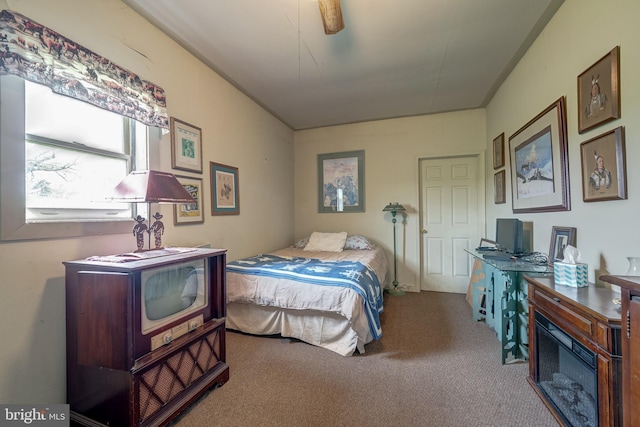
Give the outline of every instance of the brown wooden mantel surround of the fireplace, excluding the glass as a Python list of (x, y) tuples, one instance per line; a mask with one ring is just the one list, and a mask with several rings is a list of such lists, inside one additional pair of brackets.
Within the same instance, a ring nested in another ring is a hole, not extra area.
[[(590, 284), (584, 288), (555, 285), (553, 277), (525, 277), (529, 287), (529, 359), (527, 380), (561, 425), (567, 425), (538, 386), (538, 343), (534, 324), (541, 314), (563, 334), (595, 353), (599, 426), (622, 425), (620, 306), (618, 293)], [(574, 349), (574, 352), (576, 350)], [(538, 363), (539, 362), (539, 363)]]

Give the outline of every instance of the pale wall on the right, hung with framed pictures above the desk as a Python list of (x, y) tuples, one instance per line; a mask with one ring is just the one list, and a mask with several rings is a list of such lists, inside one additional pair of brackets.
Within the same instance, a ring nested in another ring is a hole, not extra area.
[[(501, 132), (505, 139), (561, 96), (566, 97), (571, 211), (518, 215), (532, 221), (534, 249), (547, 253), (553, 226), (576, 227), (577, 246), (589, 264), (589, 280), (606, 272), (624, 274), (627, 256), (640, 255), (640, 2), (566, 0), (487, 107), (487, 152)], [(615, 46), (620, 46), (621, 118), (578, 133), (577, 77)], [(585, 203), (582, 197), (580, 144), (618, 126), (626, 132), (628, 199)], [(507, 162), (509, 161), (507, 157)], [(493, 165), (487, 156), (487, 232), (496, 217), (513, 217), (511, 186), (507, 203), (493, 204)], [(507, 167), (507, 176), (510, 169)]]

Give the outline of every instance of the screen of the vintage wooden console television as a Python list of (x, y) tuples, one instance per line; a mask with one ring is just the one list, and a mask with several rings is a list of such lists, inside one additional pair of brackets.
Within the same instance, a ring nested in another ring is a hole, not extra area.
[(142, 272), (143, 332), (206, 304), (205, 260)]

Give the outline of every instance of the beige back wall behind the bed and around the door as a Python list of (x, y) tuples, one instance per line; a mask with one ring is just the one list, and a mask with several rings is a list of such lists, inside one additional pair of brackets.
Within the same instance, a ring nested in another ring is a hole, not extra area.
[[(313, 231), (363, 234), (385, 247), (391, 263), (392, 224), (382, 208), (399, 202), (408, 215), (405, 225), (398, 222), (398, 281), (408, 290), (419, 291), (418, 161), (481, 153), (485, 134), (482, 109), (296, 132), (296, 238)], [(351, 150), (365, 151), (366, 212), (318, 213), (317, 155)]]

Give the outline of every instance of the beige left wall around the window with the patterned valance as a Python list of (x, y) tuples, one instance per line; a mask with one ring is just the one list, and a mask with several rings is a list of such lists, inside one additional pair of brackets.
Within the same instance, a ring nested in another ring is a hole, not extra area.
[[(165, 245), (211, 243), (228, 249), (232, 260), (291, 244), (291, 129), (120, 1), (4, 0), (0, 6), (162, 86), (169, 115), (202, 128), (202, 175), (175, 173), (203, 179), (205, 222), (174, 227), (173, 208), (160, 205)], [(168, 134), (154, 155), (158, 169), (171, 171)], [(239, 216), (210, 215), (210, 161), (238, 167)], [(66, 400), (62, 261), (133, 249), (129, 234), (0, 243), (0, 402)]]

